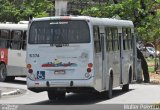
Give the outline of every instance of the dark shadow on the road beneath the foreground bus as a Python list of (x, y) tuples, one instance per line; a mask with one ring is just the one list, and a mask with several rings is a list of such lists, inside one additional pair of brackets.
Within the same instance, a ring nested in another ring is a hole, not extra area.
[[(130, 89), (128, 92), (132, 91), (133, 89)], [(123, 92), (121, 89), (114, 90), (113, 91), (113, 98), (118, 97), (120, 95), (124, 95), (127, 92)], [(95, 104), (99, 103), (101, 101), (105, 100), (111, 100), (111, 99), (106, 99), (103, 97), (103, 95), (96, 94), (96, 93), (91, 93), (91, 94), (86, 94), (86, 93), (71, 93), (66, 96), (65, 99), (63, 100), (46, 100), (46, 101), (41, 101), (37, 103), (32, 103), (28, 105), (86, 105), (86, 104)]]

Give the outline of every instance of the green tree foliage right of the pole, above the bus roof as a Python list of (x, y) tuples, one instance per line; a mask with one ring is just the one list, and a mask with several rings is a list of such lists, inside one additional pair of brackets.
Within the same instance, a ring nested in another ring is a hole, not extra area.
[[(160, 0), (157, 1), (160, 3)], [(117, 4), (107, 2), (88, 7), (82, 14), (108, 18), (119, 16), (121, 19), (132, 20), (138, 37), (145, 42), (152, 42), (160, 34), (160, 13), (155, 12), (157, 5), (158, 2), (152, 0), (122, 0)]]

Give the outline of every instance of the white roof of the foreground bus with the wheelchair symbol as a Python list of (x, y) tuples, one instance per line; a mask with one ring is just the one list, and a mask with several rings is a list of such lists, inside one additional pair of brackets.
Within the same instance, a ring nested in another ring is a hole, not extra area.
[(45, 21), (45, 20), (88, 20), (93, 25), (108, 25), (108, 26), (125, 26), (125, 27), (134, 27), (133, 22), (130, 20), (117, 20), (113, 18), (98, 18), (90, 16), (54, 16), (54, 17), (43, 17), (43, 18), (34, 18), (33, 21)]

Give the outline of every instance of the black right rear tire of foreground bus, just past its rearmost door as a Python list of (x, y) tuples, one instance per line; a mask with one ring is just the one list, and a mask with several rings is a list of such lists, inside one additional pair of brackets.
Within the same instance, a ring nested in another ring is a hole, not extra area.
[(106, 91), (106, 96), (107, 99), (111, 99), (113, 94), (113, 78), (110, 76), (109, 77), (109, 86), (108, 86), (108, 91)]

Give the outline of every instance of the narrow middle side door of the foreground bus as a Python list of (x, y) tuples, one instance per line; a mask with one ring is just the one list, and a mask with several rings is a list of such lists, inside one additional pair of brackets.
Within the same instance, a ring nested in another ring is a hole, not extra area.
[(123, 64), (124, 64), (124, 55), (123, 55), (123, 36), (122, 28), (118, 28), (118, 37), (119, 37), (119, 49), (120, 49), (120, 85), (123, 84)]

